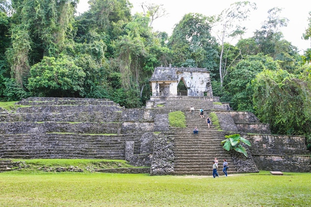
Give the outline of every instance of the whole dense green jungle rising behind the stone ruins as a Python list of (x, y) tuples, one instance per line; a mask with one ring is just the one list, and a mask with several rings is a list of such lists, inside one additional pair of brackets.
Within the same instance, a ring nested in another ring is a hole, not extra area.
[[(256, 9), (249, 1), (215, 16), (185, 14), (171, 36), (151, 27), (165, 14), (162, 5), (144, 3), (144, 13), (132, 14), (129, 0), (89, 0), (89, 10), (77, 14), (77, 3), (0, 0), (1, 101), (70, 96), (142, 107), (155, 67), (200, 67), (210, 71), (214, 96), (233, 110), (255, 113), (274, 134), (311, 141), (311, 49), (300, 55), (284, 39), (280, 28), (289, 20), (280, 8), (242, 39)], [(308, 20), (302, 36), (311, 40)]]

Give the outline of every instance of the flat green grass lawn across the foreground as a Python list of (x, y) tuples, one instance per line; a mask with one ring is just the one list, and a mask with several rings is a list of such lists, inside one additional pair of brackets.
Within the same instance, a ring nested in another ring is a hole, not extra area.
[(309, 207), (311, 174), (0, 173), (1, 207)]

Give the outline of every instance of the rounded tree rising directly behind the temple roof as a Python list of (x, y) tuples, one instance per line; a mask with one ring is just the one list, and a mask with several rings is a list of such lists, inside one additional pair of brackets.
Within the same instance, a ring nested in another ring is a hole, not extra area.
[[(172, 64), (213, 70), (218, 56), (216, 39), (211, 35), (211, 19), (199, 13), (185, 14), (173, 29), (168, 47), (173, 51)], [(193, 61), (191, 61), (193, 60)], [(186, 64), (189, 65), (189, 64)]]

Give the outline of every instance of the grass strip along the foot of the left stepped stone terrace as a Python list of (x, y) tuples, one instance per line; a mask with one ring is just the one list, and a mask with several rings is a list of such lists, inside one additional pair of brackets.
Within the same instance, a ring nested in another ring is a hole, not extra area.
[(20, 162), (18, 171), (40, 172), (55, 171), (60, 168), (73, 168), (76, 171), (92, 172), (94, 169), (128, 168), (133, 167), (125, 160), (107, 159), (14, 159)]

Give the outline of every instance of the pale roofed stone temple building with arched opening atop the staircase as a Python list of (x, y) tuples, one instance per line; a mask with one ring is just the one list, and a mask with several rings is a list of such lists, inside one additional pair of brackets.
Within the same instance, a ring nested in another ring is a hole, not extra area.
[(158, 67), (150, 79), (152, 96), (181, 95), (177, 86), (183, 82), (187, 96), (213, 96), (210, 72), (205, 68)]

